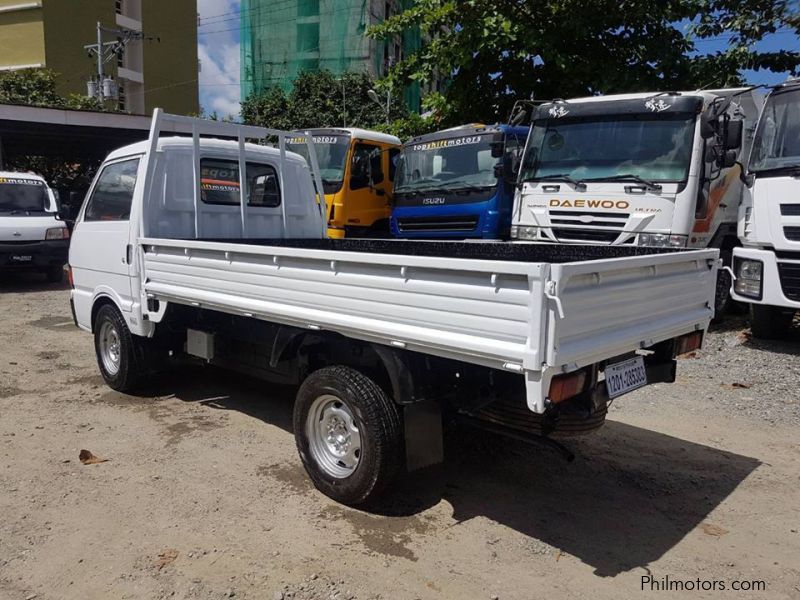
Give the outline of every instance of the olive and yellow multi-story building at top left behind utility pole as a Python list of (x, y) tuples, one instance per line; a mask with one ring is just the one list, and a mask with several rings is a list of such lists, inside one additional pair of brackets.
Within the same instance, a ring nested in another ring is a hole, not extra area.
[[(84, 46), (97, 43), (98, 22), (144, 37), (104, 65), (120, 109), (198, 112), (197, 0), (0, 0), (0, 72), (46, 67), (58, 93), (86, 94), (97, 59)], [(110, 31), (104, 42), (119, 37)]]

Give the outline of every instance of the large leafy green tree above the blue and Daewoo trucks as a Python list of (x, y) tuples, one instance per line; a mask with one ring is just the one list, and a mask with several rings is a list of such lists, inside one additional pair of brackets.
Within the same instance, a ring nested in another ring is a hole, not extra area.
[[(430, 42), (387, 85), (449, 74), (445, 121), (503, 119), (513, 102), (597, 93), (742, 84), (742, 69), (796, 72), (800, 54), (762, 52), (797, 32), (791, 0), (417, 0), (370, 27), (386, 39), (419, 27)], [(724, 44), (724, 51), (708, 52)]]

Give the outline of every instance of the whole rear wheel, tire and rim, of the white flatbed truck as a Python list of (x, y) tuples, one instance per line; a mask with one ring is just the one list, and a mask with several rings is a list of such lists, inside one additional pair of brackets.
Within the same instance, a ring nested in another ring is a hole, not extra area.
[(403, 464), (397, 406), (351, 367), (325, 367), (306, 378), (295, 400), (294, 432), (314, 485), (342, 504), (374, 500)]

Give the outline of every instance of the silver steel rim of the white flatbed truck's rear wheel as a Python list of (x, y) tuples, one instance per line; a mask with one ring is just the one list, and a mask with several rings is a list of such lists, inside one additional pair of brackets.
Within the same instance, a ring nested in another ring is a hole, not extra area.
[(361, 459), (361, 433), (353, 412), (332, 394), (311, 404), (306, 417), (306, 436), (314, 461), (331, 477), (352, 475)]

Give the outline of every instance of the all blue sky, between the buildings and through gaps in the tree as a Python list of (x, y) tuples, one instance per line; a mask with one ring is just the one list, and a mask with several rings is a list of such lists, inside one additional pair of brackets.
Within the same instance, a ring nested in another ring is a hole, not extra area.
[[(200, 106), (207, 113), (220, 117), (239, 114), (239, 9), (241, 0), (198, 0), (200, 13), (198, 57), (200, 59)], [(703, 53), (723, 50), (726, 38), (699, 40)], [(800, 39), (792, 32), (778, 32), (757, 46), (758, 50), (800, 51)], [(745, 71), (751, 84), (776, 84), (786, 79), (785, 73)]]

